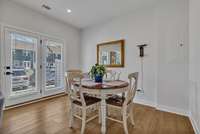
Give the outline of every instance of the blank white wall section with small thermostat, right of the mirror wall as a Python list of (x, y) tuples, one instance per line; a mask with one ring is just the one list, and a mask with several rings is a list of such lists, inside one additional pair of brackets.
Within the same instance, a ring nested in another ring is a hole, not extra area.
[(156, 8), (156, 16), (158, 107), (187, 114), (188, 1), (161, 0)]

